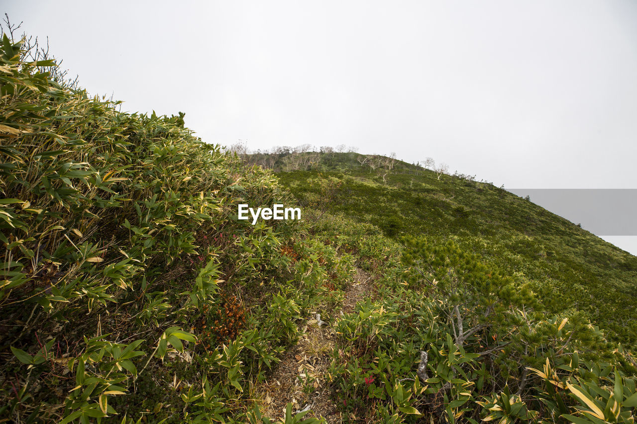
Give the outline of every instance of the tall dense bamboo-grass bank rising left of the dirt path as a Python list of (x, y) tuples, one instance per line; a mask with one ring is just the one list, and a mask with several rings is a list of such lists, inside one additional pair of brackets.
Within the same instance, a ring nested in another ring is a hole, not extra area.
[[(0, 47), (0, 421), (245, 422), (352, 258), (179, 117), (122, 113)], [(44, 65), (44, 64), (40, 64)], [(329, 283), (329, 286), (327, 286)]]

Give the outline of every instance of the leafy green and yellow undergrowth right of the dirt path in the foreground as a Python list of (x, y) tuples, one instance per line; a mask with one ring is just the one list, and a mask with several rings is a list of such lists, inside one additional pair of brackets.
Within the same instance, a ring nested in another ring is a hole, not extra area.
[(529, 283), (453, 241), (390, 241), (340, 215), (313, 231), (378, 278), (335, 323), (329, 380), (344, 421), (634, 422), (633, 355), (582, 313), (548, 313)]

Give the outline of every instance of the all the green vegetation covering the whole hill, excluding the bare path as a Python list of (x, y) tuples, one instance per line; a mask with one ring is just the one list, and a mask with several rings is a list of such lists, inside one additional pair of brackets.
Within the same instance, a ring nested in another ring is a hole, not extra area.
[[(637, 258), (471, 178), (222, 152), (20, 47), (0, 51), (0, 420), (269, 423), (257, 388), (318, 312), (339, 420), (634, 422)], [(303, 221), (236, 220), (275, 202)], [(373, 291), (340, 314), (356, 267)]]

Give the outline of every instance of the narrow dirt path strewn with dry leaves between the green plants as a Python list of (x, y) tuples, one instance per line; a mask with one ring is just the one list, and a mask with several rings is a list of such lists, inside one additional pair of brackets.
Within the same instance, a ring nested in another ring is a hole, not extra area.
[[(370, 292), (371, 276), (357, 268), (354, 282), (344, 292), (343, 313), (354, 311), (357, 302)], [(325, 418), (328, 424), (341, 423), (341, 414), (333, 404), (331, 388), (325, 381), (330, 355), (336, 346), (332, 325), (336, 320), (330, 318), (331, 324), (322, 325), (318, 325), (316, 319), (309, 320), (298, 343), (285, 353), (266, 381), (259, 385), (257, 397), (262, 400), (264, 416), (281, 418), (285, 416), (287, 403), (292, 402), (293, 411), (310, 409), (306, 418), (315, 416)]]

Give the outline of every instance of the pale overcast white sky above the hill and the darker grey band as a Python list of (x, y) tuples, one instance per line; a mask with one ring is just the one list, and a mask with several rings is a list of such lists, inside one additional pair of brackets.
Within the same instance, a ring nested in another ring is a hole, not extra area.
[(433, 157), (506, 188), (637, 188), (637, 2), (20, 1), (92, 94), (208, 143)]

